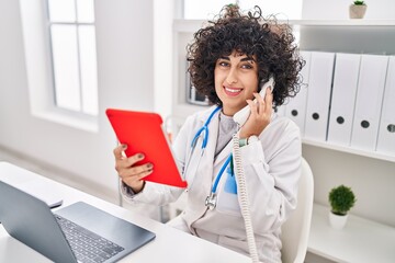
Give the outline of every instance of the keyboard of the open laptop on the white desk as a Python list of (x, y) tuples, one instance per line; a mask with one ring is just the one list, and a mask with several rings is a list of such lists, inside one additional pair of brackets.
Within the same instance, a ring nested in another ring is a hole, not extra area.
[(59, 216), (55, 215), (78, 262), (100, 263), (124, 250), (121, 245)]

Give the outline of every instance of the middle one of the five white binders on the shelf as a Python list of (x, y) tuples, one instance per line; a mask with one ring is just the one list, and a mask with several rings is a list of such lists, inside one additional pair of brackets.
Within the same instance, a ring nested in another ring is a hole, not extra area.
[(336, 54), (328, 141), (349, 146), (361, 55)]

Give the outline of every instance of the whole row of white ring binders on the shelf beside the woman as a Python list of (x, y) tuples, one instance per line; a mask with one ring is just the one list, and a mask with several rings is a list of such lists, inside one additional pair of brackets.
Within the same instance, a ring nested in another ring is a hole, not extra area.
[(279, 107), (305, 139), (395, 156), (395, 56), (301, 52), (295, 98)]

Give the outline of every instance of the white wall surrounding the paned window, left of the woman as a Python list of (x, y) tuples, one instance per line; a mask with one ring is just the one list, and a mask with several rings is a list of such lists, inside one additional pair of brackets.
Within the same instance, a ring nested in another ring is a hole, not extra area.
[(75, 174), (116, 202), (106, 107), (154, 111), (153, 0), (97, 0), (99, 132), (30, 113), (19, 1), (0, 0), (0, 147)]

